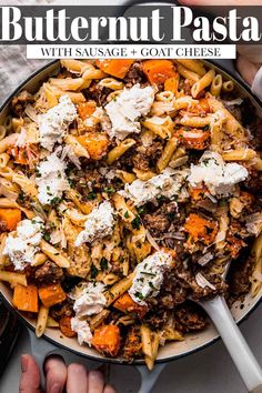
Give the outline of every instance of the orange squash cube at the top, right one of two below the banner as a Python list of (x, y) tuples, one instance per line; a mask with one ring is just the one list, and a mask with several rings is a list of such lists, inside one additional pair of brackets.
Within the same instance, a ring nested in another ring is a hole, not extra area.
[(142, 69), (152, 84), (162, 84), (167, 79), (178, 77), (171, 60), (145, 60), (142, 63)]

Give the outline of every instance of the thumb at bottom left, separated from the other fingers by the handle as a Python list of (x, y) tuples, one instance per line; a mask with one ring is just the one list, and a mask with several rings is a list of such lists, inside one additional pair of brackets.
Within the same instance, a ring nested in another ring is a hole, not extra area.
[(40, 372), (31, 355), (21, 356), (21, 371), (19, 393), (40, 393)]

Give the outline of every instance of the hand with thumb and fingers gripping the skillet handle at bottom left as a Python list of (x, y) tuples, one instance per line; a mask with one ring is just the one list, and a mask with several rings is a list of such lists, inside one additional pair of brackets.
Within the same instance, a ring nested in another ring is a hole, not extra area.
[[(40, 371), (31, 355), (21, 356), (20, 393), (43, 393), (40, 387)], [(117, 393), (111, 385), (104, 385), (101, 372), (87, 371), (82, 364), (67, 366), (62, 359), (50, 357), (44, 363), (46, 393)]]

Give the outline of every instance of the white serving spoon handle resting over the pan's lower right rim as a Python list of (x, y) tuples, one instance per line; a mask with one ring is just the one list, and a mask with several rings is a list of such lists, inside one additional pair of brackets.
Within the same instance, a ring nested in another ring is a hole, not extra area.
[(201, 301), (199, 304), (213, 321), (245, 386), (250, 393), (262, 392), (262, 370), (239, 330), (223, 296)]

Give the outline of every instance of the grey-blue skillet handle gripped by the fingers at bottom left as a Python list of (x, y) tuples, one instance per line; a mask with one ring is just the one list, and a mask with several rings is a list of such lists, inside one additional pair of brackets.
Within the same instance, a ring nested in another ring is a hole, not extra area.
[(87, 369), (98, 369), (101, 363), (98, 361), (91, 361), (87, 357), (73, 354), (67, 350), (59, 349), (54, 344), (44, 340), (43, 337), (38, 339), (33, 331), (28, 329), (30, 344), (31, 344), (31, 354), (36, 359), (41, 375), (41, 384), (44, 385), (44, 373), (43, 373), (43, 364), (47, 357), (51, 355), (61, 356), (64, 360), (66, 364), (70, 363), (82, 363)]

